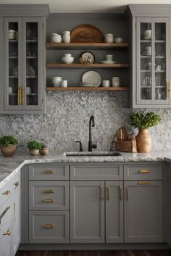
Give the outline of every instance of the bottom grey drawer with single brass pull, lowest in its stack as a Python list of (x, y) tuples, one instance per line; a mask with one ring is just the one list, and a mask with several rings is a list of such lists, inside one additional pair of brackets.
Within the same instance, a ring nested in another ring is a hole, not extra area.
[(69, 212), (31, 211), (29, 223), (30, 243), (69, 243)]

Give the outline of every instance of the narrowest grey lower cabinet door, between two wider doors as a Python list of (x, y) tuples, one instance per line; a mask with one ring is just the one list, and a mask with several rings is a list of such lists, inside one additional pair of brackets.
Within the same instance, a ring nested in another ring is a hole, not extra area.
[(122, 181), (106, 181), (106, 242), (123, 242)]

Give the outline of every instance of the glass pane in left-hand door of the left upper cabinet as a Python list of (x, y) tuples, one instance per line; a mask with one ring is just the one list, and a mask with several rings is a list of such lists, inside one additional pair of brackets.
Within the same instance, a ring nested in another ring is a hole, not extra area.
[(18, 23), (9, 22), (9, 105), (18, 104)]

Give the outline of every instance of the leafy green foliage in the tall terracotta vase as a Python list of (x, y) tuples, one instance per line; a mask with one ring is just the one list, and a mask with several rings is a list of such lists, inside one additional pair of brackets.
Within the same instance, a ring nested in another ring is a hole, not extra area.
[(157, 125), (162, 118), (154, 112), (139, 112), (130, 114), (130, 125), (140, 130), (148, 129), (154, 125)]

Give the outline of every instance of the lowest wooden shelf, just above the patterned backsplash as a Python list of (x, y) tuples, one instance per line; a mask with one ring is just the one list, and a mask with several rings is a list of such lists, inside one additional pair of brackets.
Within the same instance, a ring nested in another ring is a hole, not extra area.
[(46, 87), (46, 91), (128, 91), (128, 87)]

